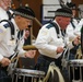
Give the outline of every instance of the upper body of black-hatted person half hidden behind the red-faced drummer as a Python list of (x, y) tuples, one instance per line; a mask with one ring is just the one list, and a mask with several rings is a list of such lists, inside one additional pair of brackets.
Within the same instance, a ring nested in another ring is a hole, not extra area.
[(75, 19), (76, 5), (75, 5), (75, 3), (72, 3), (72, 2), (67, 3), (67, 5), (72, 10), (72, 19), (71, 19), (70, 24), (68, 25), (67, 32), (68, 32), (68, 35), (70, 36), (70, 38), (73, 39), (73, 37), (75, 37), (74, 30), (78, 25), (78, 20)]

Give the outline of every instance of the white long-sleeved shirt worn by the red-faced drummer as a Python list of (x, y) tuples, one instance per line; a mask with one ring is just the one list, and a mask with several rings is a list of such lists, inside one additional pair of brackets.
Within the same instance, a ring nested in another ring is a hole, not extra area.
[[(56, 21), (54, 21), (56, 22)], [(57, 22), (56, 22), (57, 23)], [(59, 27), (59, 38), (57, 37), (57, 32), (54, 26), (47, 27), (48, 24), (44, 25), (38, 33), (38, 36), (35, 42), (36, 48), (38, 48), (42, 55), (48, 56), (50, 58), (58, 58), (60, 55), (57, 55), (57, 47), (64, 47), (66, 43), (69, 48), (72, 48), (72, 44), (69, 42), (69, 37), (66, 35), (64, 39), (61, 35), (60, 26)]]

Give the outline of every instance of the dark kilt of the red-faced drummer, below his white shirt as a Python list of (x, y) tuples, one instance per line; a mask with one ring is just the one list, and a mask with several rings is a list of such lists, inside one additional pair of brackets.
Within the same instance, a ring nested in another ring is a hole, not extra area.
[(66, 74), (66, 71), (62, 71), (61, 57), (59, 57), (58, 59), (55, 59), (55, 58), (49, 58), (49, 57), (44, 56), (44, 55), (39, 55), (37, 63), (35, 66), (35, 70), (45, 71), (47, 73), (49, 65), (52, 61), (61, 70), (61, 73), (62, 73), (66, 82), (69, 82), (69, 77)]

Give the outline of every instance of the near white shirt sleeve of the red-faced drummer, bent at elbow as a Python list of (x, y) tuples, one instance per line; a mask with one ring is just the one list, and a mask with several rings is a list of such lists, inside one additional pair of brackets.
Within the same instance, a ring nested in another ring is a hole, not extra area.
[(39, 31), (37, 39), (34, 44), (38, 49), (40, 49), (46, 55), (56, 55), (57, 47), (55, 45), (49, 44), (52, 40), (51, 32), (49, 28), (43, 27)]

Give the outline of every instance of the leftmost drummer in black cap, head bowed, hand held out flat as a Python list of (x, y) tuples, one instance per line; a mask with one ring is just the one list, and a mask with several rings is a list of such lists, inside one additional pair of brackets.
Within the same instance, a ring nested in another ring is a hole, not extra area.
[[(36, 50), (23, 50), (24, 30), (28, 27), (28, 23), (34, 19), (35, 14), (31, 8), (20, 7), (15, 9), (13, 19), (11, 20), (13, 26), (7, 22), (0, 23), (0, 81), (11, 82), (7, 70), (3, 68), (11, 63), (11, 57), (15, 54), (34, 58)], [(13, 35), (12, 35), (13, 33)]]

